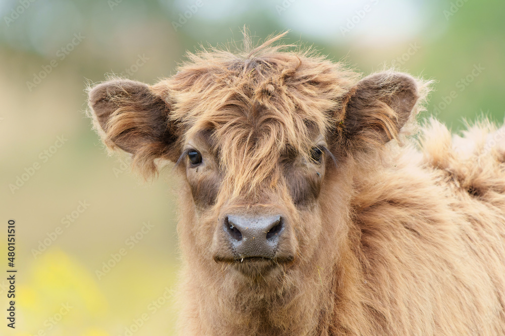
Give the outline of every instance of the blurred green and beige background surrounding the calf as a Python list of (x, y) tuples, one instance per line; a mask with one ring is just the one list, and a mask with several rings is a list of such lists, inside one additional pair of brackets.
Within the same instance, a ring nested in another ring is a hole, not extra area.
[(240, 42), (244, 25), (258, 40), (290, 29), (286, 42), (364, 74), (385, 64), (436, 80), (423, 117), (457, 131), (463, 118), (503, 121), (504, 14), (498, 0), (2, 0), (0, 209), (3, 225), (16, 220), (18, 274), (16, 329), (3, 320), (0, 334), (174, 333), (173, 177), (141, 183), (105, 154), (86, 83), (153, 84), (185, 50)]

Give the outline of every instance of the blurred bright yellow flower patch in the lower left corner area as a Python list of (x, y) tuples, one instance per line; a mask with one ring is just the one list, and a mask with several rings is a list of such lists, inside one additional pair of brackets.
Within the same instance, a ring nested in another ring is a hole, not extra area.
[[(17, 288), (21, 330), (32, 334), (39, 330), (75, 331), (75, 327), (98, 322), (107, 312), (107, 302), (93, 274), (56, 247), (34, 260), (27, 273), (28, 281)], [(105, 335), (103, 331), (90, 332)]]

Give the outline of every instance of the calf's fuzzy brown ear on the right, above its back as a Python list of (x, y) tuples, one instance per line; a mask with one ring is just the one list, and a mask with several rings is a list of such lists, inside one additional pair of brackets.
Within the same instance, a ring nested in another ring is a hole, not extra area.
[(365, 77), (344, 96), (337, 129), (351, 148), (367, 149), (396, 139), (419, 99), (418, 82), (402, 73)]

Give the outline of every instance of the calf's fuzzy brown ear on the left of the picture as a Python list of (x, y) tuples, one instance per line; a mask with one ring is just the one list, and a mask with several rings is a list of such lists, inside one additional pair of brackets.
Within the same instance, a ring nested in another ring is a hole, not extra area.
[(178, 129), (153, 87), (126, 79), (98, 84), (89, 90), (89, 107), (104, 144), (131, 153), (133, 166), (144, 174), (157, 171), (156, 159), (177, 161)]

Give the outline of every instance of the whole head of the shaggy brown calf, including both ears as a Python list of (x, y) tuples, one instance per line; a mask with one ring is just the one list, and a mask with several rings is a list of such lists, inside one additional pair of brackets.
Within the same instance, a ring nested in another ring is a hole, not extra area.
[(115, 79), (89, 91), (107, 146), (146, 175), (175, 164), (187, 285), (248, 291), (249, 303), (331, 281), (356, 158), (396, 138), (418, 99), (408, 75), (359, 80), (271, 42), (190, 55), (153, 86)]

